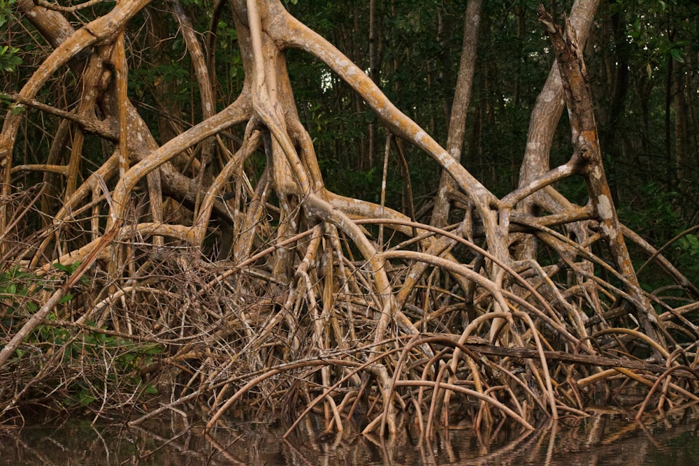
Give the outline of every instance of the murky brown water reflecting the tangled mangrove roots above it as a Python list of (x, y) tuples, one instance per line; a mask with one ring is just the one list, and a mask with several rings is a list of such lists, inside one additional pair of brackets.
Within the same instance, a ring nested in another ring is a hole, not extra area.
[(182, 418), (147, 425), (54, 425), (0, 428), (3, 465), (698, 465), (699, 421), (682, 417), (637, 423), (602, 413), (563, 419), (535, 432), (493, 430), (488, 438), (468, 428), (432, 439), (404, 428), (395, 439), (356, 433), (320, 435), (321, 420), (285, 430), (268, 423), (236, 423), (205, 435)]

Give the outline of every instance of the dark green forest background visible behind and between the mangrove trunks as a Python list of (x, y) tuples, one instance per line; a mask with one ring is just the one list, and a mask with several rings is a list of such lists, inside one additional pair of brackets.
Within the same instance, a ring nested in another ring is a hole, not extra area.
[[(45, 57), (46, 46), (38, 34), (25, 34), (18, 22), (5, 23), (13, 3), (0, 1), (5, 12), (0, 16), (3, 92), (24, 82), (34, 70), (33, 57)], [(195, 29), (206, 31), (212, 4), (181, 3), (201, 22)], [(549, 1), (546, 6), (556, 17), (570, 10), (570, 3)], [(496, 195), (517, 186), (528, 119), (553, 61), (536, 17), (538, 4), (496, 0), (484, 2), (482, 9), (462, 163)], [(377, 2), (373, 41), (368, 34), (369, 2), (297, 0), (288, 1), (287, 8), (377, 78), (398, 108), (445, 144), (466, 1)], [(698, 18), (699, 6), (691, 1), (603, 1), (585, 47), (605, 168), (621, 220), (656, 245), (698, 221)], [(73, 22), (80, 22), (79, 11)], [(201, 119), (194, 72), (189, 59), (183, 59), (185, 43), (178, 25), (159, 2), (132, 23), (127, 44), (129, 96), (164, 143)], [(377, 63), (373, 71), (370, 48), (375, 48)], [(374, 127), (373, 112), (324, 64), (304, 59), (303, 52), (290, 53), (298, 111), (314, 139), (329, 189), (378, 201), (384, 136)], [(215, 61), (216, 91), (223, 107), (243, 85), (233, 24), (219, 25)], [(43, 99), (70, 99), (65, 90), (48, 87)], [(53, 124), (27, 122), (15, 156), (24, 163), (44, 163), (50, 142), (46, 135), (55, 131)], [(565, 115), (559, 130), (552, 166), (570, 156)], [(421, 207), (430, 207), (440, 171), (418, 150), (408, 145), (402, 149), (404, 160), (391, 161), (398, 170), (389, 176), (387, 204), (410, 213), (412, 195), (419, 214)], [(99, 164), (103, 148), (94, 147), (94, 154)], [(15, 182), (30, 186), (36, 181), (31, 176), (25, 172), (24, 179)], [(572, 201), (584, 203), (584, 189), (575, 186), (558, 188)], [(686, 236), (674, 249), (685, 272), (692, 271), (688, 267), (699, 270), (694, 265), (699, 257), (696, 237)]]

